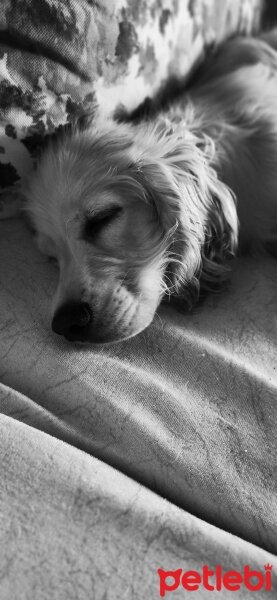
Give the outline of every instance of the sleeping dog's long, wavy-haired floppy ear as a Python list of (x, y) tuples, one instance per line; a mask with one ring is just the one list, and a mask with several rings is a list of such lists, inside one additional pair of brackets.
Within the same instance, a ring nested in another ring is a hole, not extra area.
[(178, 304), (191, 305), (200, 286), (218, 290), (226, 280), (226, 258), (237, 245), (235, 200), (212, 167), (210, 139), (168, 130), (148, 130), (145, 138), (137, 176), (168, 242), (168, 291)]

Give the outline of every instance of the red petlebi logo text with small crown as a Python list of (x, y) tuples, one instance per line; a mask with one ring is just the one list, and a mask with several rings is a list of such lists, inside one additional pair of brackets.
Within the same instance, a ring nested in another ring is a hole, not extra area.
[(183, 587), (187, 592), (196, 592), (204, 588), (209, 592), (237, 592), (247, 589), (251, 592), (261, 590), (270, 592), (272, 565), (264, 565), (261, 571), (252, 569), (250, 565), (242, 567), (241, 571), (223, 571), (220, 565), (211, 569), (204, 565), (201, 571), (164, 571), (158, 569), (160, 579), (160, 596), (164, 597), (170, 592), (174, 592), (179, 587)]

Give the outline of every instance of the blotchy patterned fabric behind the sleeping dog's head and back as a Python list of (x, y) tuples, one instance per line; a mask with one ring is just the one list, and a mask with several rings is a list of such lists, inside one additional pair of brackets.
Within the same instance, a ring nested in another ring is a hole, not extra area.
[(261, 0), (5, 0), (0, 12), (0, 218), (20, 205), (44, 138), (132, 110), (203, 48), (250, 32)]

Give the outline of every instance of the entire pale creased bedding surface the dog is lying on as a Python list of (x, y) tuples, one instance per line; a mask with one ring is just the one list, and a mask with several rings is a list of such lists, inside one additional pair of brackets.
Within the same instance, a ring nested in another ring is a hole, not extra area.
[(1, 598), (158, 598), (158, 567), (274, 576), (276, 260), (81, 348), (51, 333), (57, 272), (20, 221), (0, 224), (0, 256)]

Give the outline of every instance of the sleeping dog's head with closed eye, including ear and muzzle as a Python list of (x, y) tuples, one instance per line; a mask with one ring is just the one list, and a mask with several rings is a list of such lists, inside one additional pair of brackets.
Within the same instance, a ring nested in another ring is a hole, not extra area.
[(205, 245), (208, 280), (221, 278), (212, 239), (220, 233), (217, 254), (233, 249), (234, 205), (187, 138), (161, 124), (109, 123), (49, 145), (27, 211), (39, 248), (59, 265), (56, 333), (91, 343), (139, 333), (165, 293), (197, 288)]

